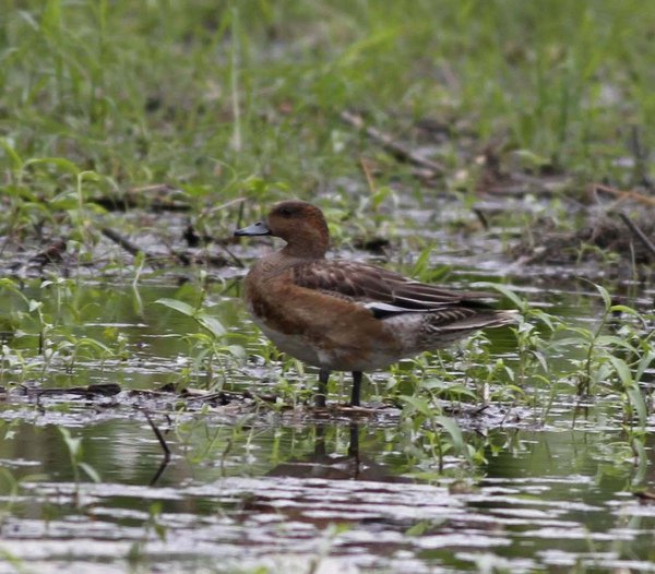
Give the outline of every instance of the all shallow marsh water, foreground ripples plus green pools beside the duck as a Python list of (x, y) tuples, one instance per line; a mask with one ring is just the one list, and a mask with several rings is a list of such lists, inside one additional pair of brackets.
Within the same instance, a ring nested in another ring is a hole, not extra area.
[[(523, 288), (533, 301), (572, 322), (596, 320), (588, 286), (535, 283)], [(485, 461), (446, 456), (440, 467), (412, 450), (393, 405), (323, 418), (250, 399), (181, 409), (172, 393), (134, 391), (179, 382), (183, 372), (192, 385), (212, 379), (189, 359), (194, 342), (182, 334), (196, 332), (193, 322), (152, 304), (198, 295), (186, 289), (143, 285), (135, 301), (130, 286), (85, 288), (78, 332), (99, 339), (119, 332), (123, 359), (81, 356), (68, 371), (55, 361), (26, 378), (4, 372), (0, 573), (655, 571), (655, 503), (630, 492), (655, 489), (653, 416), (648, 464), (635, 467), (611, 399), (575, 408), (558, 394), (545, 419), (527, 404), (493, 404), (481, 422), (461, 421)], [(229, 285), (211, 288), (205, 304), (238, 340), (254, 331), (235, 296)], [(250, 359), (230, 367), (225, 388), (271, 393), (277, 371), (257, 359), (255, 336), (248, 346)], [(503, 342), (495, 352), (511, 359)], [(383, 388), (384, 374), (376, 380)], [(121, 391), (37, 397), (98, 383)], [(544, 390), (527, 391), (547, 399)], [(171, 449), (167, 464), (144, 410)], [(60, 428), (80, 439), (76, 459)]]

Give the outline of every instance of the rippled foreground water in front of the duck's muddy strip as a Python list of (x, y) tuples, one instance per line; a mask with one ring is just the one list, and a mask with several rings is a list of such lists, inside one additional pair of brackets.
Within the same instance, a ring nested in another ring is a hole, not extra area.
[[(655, 505), (627, 493), (631, 470), (603, 457), (620, 431), (492, 430), (503, 447), (471, 485), (414, 478), (369, 424), (356, 428), (358, 452), (354, 426), (326, 423), (262, 424), (226, 454), (230, 429), (195, 423), (186, 455), (170, 441), (177, 454), (155, 487), (160, 452), (141, 421), (79, 432), (103, 482), (78, 486), (53, 426), (14, 428), (2, 458), (25, 478), (2, 499), (3, 550), (33, 572), (653, 570)], [(223, 440), (196, 462), (205, 433)]]

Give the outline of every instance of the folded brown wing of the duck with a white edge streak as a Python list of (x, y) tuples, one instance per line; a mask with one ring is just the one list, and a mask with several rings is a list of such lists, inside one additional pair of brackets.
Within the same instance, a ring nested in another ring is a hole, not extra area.
[(308, 261), (293, 267), (299, 287), (348, 299), (371, 309), (376, 315), (428, 312), (453, 307), (486, 307), (489, 294), (453, 291), (404, 277), (374, 265), (347, 261)]

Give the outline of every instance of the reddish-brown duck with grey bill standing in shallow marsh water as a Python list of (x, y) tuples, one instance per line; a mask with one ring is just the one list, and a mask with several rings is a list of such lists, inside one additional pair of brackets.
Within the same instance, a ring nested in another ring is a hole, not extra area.
[(259, 259), (245, 278), (253, 322), (283, 352), (319, 369), (315, 406), (324, 408), (332, 371), (353, 374), (360, 407), (364, 372), (449, 346), (478, 330), (515, 322), (489, 294), (421, 283), (394, 271), (327, 259), (330, 232), (315, 205), (286, 200), (236, 237), (273, 236), (286, 244)]

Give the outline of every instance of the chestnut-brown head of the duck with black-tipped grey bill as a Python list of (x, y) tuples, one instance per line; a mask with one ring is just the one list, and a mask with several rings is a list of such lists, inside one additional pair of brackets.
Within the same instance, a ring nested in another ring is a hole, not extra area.
[(284, 239), (284, 252), (294, 256), (322, 258), (330, 235), (323, 212), (299, 200), (276, 203), (263, 222), (237, 229), (235, 236), (273, 236)]

